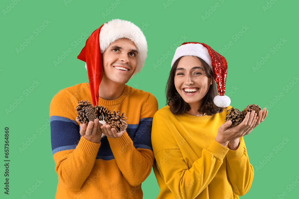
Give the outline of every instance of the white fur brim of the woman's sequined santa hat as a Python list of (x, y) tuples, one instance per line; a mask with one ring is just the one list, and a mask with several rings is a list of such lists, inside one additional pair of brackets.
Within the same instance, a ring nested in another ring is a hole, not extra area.
[(212, 58), (209, 54), (208, 49), (202, 44), (184, 44), (179, 46), (176, 49), (176, 53), (174, 53), (171, 67), (173, 67), (174, 62), (182, 56), (197, 56), (199, 58), (202, 58), (212, 69)]

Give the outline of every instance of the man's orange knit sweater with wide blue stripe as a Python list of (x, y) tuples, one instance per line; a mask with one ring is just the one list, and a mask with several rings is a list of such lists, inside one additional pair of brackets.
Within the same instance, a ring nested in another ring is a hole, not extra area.
[(51, 101), (51, 145), (58, 186), (55, 198), (142, 198), (141, 183), (152, 169), (152, 117), (158, 110), (149, 92), (125, 85), (116, 100), (98, 104), (125, 112), (126, 132), (119, 138), (102, 137), (93, 143), (79, 133), (76, 106), (91, 100), (88, 83), (58, 92)]

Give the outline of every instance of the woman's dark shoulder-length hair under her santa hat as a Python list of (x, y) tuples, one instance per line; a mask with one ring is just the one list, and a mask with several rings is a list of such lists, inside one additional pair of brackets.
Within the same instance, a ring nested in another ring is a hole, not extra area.
[[(193, 56), (193, 57), (195, 58), (196, 56)], [(166, 84), (167, 105), (170, 107), (170, 111), (176, 115), (182, 114), (183, 112), (185, 112), (185, 110), (186, 111), (190, 110), (189, 104), (183, 100), (183, 98), (177, 92), (176, 87), (174, 85), (174, 76), (176, 75), (176, 67), (181, 58), (182, 57), (178, 58), (174, 62), (173, 67), (170, 70), (169, 78), (168, 78), (167, 84)], [(196, 57), (196, 58), (198, 58), (199, 61), (202, 63), (205, 74), (208, 76), (208, 78), (212, 78), (212, 81), (213, 81), (214, 78), (213, 78), (212, 69), (209, 67), (209, 65), (204, 60), (202, 60), (199, 57)], [(203, 99), (202, 105), (197, 110), (198, 112), (200, 112), (201, 114), (214, 115), (218, 112), (223, 111), (223, 108), (217, 107), (213, 102), (214, 97), (217, 95), (216, 90), (217, 90), (216, 84), (215, 84), (215, 81), (213, 81), (213, 84), (210, 85), (207, 94), (202, 98)]]

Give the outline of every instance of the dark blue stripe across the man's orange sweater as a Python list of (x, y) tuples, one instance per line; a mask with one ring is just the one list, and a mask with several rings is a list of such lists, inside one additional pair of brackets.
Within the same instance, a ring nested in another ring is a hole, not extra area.
[[(79, 133), (80, 126), (76, 121), (53, 115), (50, 117), (50, 124), (53, 155), (62, 150), (76, 148), (81, 138)], [(135, 148), (152, 150), (151, 130), (152, 118), (142, 118), (139, 124), (128, 124), (126, 129)], [(106, 136), (101, 139), (101, 145), (96, 159), (115, 159)]]

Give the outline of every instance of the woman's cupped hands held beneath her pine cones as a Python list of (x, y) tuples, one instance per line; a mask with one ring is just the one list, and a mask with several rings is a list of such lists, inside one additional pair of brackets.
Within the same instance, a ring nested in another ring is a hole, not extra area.
[(249, 134), (258, 124), (265, 120), (267, 115), (268, 111), (266, 111), (266, 108), (260, 110), (258, 117), (256, 117), (257, 114), (254, 111), (248, 112), (241, 124), (231, 128), (229, 128), (231, 121), (227, 121), (219, 127), (215, 140), (222, 146), (229, 144), (228, 147), (230, 149), (236, 150), (239, 146), (239, 138)]

